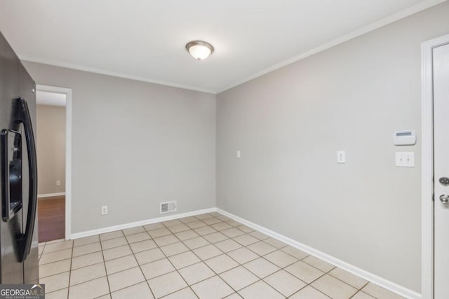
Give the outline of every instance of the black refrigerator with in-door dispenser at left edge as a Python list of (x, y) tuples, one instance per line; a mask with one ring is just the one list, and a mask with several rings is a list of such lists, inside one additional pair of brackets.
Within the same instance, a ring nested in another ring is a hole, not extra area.
[(35, 88), (0, 32), (0, 284), (39, 283)]

